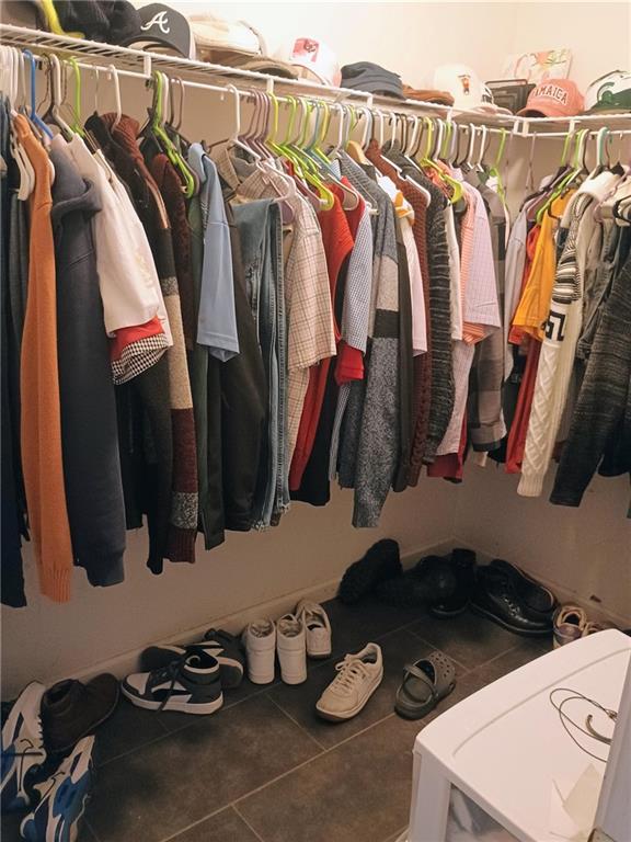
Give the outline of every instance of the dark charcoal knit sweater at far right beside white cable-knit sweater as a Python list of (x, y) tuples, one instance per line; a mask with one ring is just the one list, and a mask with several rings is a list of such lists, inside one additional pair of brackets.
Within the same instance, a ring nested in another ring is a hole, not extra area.
[(631, 257), (613, 280), (587, 362), (550, 502), (581, 505), (608, 441), (620, 430), (631, 470)]

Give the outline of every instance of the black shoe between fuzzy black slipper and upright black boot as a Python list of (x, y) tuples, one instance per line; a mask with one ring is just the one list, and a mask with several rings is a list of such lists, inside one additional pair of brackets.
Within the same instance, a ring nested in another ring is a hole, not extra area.
[(375, 587), (375, 596), (387, 605), (401, 608), (426, 607), (440, 600), (448, 600), (456, 588), (454, 573), (443, 564), (440, 567), (428, 565), (428, 556), (406, 570), (402, 576), (387, 579)]

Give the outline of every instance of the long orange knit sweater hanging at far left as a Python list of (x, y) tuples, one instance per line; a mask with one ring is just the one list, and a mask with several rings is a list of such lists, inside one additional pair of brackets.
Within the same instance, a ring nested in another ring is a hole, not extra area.
[(51, 600), (65, 602), (70, 599), (72, 544), (61, 460), (50, 170), (48, 156), (25, 117), (18, 115), (14, 126), (35, 170), (20, 371), (22, 468), (39, 587)]

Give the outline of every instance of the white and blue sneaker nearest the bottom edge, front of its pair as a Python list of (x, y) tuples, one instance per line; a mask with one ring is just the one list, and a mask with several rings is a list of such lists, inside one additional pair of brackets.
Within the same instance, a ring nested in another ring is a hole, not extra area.
[(83, 737), (57, 772), (37, 784), (37, 807), (20, 826), (27, 842), (74, 842), (92, 789), (94, 737)]

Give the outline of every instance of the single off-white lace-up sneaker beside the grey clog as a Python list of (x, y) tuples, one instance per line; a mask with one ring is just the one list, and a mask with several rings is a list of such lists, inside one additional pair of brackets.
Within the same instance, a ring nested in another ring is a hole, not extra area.
[(335, 669), (337, 675), (318, 699), (316, 710), (324, 719), (339, 722), (357, 716), (381, 683), (381, 648), (368, 644), (360, 652), (345, 656)]

